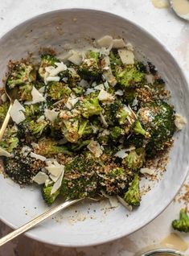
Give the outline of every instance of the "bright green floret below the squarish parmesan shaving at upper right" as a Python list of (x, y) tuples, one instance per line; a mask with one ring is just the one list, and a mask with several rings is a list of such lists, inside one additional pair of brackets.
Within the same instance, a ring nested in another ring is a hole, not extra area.
[(123, 88), (136, 86), (144, 79), (144, 73), (138, 71), (134, 65), (125, 65), (123, 68), (116, 66), (114, 76)]

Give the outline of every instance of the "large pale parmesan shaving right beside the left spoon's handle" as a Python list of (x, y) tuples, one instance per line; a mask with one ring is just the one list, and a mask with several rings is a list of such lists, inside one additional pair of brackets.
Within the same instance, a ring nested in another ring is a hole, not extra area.
[(14, 100), (14, 103), (10, 109), (10, 117), (16, 124), (19, 124), (26, 119), (23, 112), (25, 112), (23, 105), (21, 105), (18, 100)]

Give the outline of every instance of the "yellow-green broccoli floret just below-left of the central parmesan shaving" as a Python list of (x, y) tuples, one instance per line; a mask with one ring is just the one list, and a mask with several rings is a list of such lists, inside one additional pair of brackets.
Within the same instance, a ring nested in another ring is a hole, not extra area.
[(84, 118), (101, 114), (101, 110), (102, 108), (97, 97), (86, 97), (81, 103), (81, 111)]

